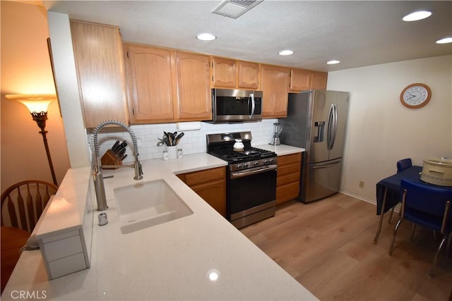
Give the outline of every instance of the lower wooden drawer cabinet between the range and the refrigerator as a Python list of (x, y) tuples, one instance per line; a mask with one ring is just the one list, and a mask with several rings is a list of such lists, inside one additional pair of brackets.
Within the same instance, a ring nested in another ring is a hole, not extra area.
[(299, 178), (302, 168), (302, 153), (278, 156), (276, 178), (276, 204), (295, 199), (299, 194)]

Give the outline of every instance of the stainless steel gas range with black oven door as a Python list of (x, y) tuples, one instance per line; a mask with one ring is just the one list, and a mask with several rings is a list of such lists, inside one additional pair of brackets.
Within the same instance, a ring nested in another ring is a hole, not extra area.
[[(235, 140), (243, 150), (234, 150)], [(251, 147), (251, 132), (207, 135), (207, 152), (228, 162), (226, 173), (227, 220), (237, 228), (275, 215), (275, 152)]]

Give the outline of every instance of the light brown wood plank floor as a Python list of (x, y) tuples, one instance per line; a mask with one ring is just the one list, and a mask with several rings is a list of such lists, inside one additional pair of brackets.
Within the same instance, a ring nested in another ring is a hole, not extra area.
[(241, 232), (319, 300), (448, 300), (452, 257), (441, 252), (436, 276), (429, 277), (439, 240), (418, 226), (410, 241), (408, 221), (389, 256), (398, 216), (391, 223), (388, 217), (374, 245), (375, 205), (338, 193), (309, 204), (281, 204), (273, 218)]

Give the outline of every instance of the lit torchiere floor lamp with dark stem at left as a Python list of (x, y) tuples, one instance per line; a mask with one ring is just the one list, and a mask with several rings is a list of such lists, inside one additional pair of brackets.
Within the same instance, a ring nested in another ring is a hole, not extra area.
[(47, 130), (45, 130), (45, 121), (47, 121), (47, 108), (49, 104), (57, 99), (55, 94), (10, 94), (6, 95), (6, 99), (16, 100), (27, 106), (30, 110), (31, 116), (36, 121), (37, 126), (40, 127), (40, 134), (44, 140), (45, 152), (47, 160), (49, 161), (50, 172), (52, 173), (52, 180), (57, 184), (57, 177), (55, 176), (54, 165), (52, 164), (52, 157), (50, 156), (49, 145), (47, 144)]

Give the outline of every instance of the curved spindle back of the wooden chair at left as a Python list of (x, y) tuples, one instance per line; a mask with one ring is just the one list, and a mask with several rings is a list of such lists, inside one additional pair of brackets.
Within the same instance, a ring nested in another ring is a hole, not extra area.
[(42, 180), (16, 183), (1, 194), (1, 226), (32, 232), (57, 185)]

